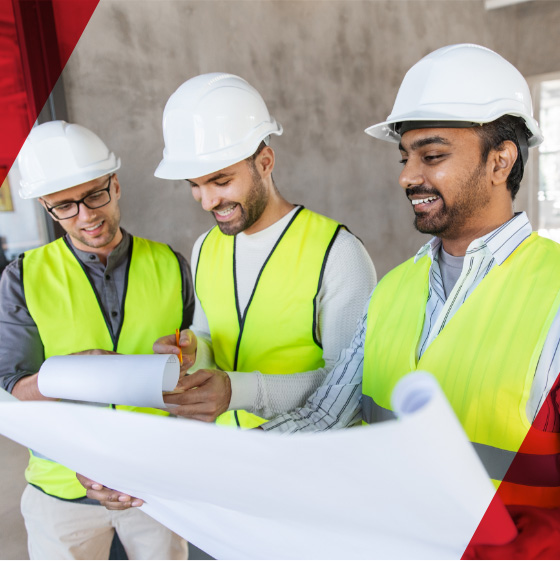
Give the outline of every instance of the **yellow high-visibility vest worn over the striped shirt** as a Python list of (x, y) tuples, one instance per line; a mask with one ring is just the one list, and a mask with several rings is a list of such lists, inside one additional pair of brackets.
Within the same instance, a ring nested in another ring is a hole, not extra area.
[[(495, 485), (504, 480), (500, 496), (509, 504), (560, 506), (560, 480), (551, 484), (538, 469), (521, 478), (506, 475), (531, 426), (531, 384), (560, 305), (560, 245), (531, 235), (486, 275), (417, 360), (430, 264), (428, 256), (410, 259), (374, 291), (364, 347), (364, 420), (391, 415), (391, 392), (405, 374), (431, 372)], [(560, 453), (560, 434), (541, 436), (537, 455)]]

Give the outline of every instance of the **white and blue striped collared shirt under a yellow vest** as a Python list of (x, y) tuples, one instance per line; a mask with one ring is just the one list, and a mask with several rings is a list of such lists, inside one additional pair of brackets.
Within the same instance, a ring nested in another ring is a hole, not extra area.
[[(474, 240), (468, 247), (457, 283), (445, 297), (439, 264), (441, 239), (432, 238), (416, 254), (415, 261), (428, 256), (432, 262), (424, 328), (416, 351), (420, 358), (455, 312), (496, 265), (501, 265), (532, 232), (527, 215), (516, 214), (509, 222)], [(373, 293), (372, 293), (373, 294)], [(371, 298), (371, 297), (370, 297)], [(262, 425), (264, 430), (284, 433), (343, 428), (362, 418), (362, 375), (369, 302), (365, 307), (350, 347), (341, 352), (325, 382), (305, 405)], [(560, 399), (555, 385), (560, 373), (560, 313), (550, 327), (527, 402), (527, 417), (538, 418), (538, 428), (560, 432)], [(549, 395), (550, 393), (550, 395)]]

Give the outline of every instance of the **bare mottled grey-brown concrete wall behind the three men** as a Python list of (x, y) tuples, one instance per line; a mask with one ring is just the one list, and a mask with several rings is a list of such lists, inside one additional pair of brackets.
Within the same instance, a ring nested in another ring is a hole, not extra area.
[(559, 28), (556, 0), (489, 12), (482, 0), (101, 0), (64, 83), (70, 119), (122, 157), (124, 226), (190, 255), (213, 219), (184, 182), (153, 177), (163, 107), (194, 75), (243, 76), (284, 126), (281, 192), (347, 224), (381, 275), (427, 238), (398, 186), (396, 147), (363, 129), (430, 51), (475, 42), (530, 76), (560, 70)]

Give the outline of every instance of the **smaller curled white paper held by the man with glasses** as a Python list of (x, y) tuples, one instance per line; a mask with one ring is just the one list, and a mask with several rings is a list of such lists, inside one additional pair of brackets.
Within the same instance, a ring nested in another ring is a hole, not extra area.
[(179, 370), (172, 354), (53, 356), (38, 383), (46, 397), (165, 409), (162, 392), (175, 388)]

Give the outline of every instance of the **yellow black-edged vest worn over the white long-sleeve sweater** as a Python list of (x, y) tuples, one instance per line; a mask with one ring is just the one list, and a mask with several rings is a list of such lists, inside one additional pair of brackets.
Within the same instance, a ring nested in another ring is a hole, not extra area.
[[(196, 293), (208, 319), (218, 368), (294, 374), (324, 366), (316, 337), (316, 299), (341, 226), (301, 208), (261, 269), (242, 315), (236, 291), (235, 236), (214, 227), (202, 243)], [(218, 424), (253, 428), (266, 419), (227, 411)]]

